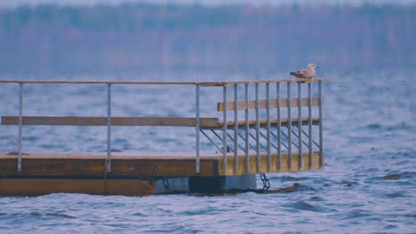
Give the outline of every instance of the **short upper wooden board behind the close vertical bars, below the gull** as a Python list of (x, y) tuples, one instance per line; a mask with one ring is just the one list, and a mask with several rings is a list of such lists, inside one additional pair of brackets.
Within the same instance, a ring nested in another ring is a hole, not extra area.
[[(260, 109), (267, 108), (266, 105), (267, 100), (261, 99), (259, 100), (259, 107)], [(301, 106), (308, 106), (308, 98), (301, 98), (300, 99), (300, 105)], [(312, 106), (319, 105), (319, 98), (312, 98)], [(223, 111), (224, 104), (222, 102), (217, 104), (217, 111), (222, 112)], [(292, 107), (298, 107), (298, 98), (292, 98), (291, 99), (291, 106)], [(270, 99), (270, 108), (276, 108), (277, 102), (276, 99)], [(287, 99), (280, 99), (280, 107), (287, 107)], [(255, 109), (256, 108), (256, 101), (255, 100), (249, 100), (248, 106), (245, 102), (245, 100), (237, 101), (237, 110), (245, 110), (245, 109)], [(227, 110), (228, 111), (234, 111), (234, 102), (227, 102)]]

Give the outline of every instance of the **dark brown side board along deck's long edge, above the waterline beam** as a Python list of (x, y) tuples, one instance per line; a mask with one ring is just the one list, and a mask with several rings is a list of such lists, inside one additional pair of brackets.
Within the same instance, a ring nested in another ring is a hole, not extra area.
[[(103, 178), (105, 175), (105, 157), (97, 159), (97, 155), (82, 157), (62, 157), (57, 154), (25, 155), (22, 159), (22, 171), (18, 172), (17, 156), (0, 154), (0, 177), (74, 177), (74, 178)], [(200, 160), (201, 171), (197, 175), (195, 171), (195, 155), (184, 155), (183, 157), (129, 157), (118, 155), (112, 157), (111, 172), (108, 178), (113, 177), (164, 177), (164, 176), (215, 176), (218, 169), (214, 165), (219, 159), (218, 155), (204, 156)]]

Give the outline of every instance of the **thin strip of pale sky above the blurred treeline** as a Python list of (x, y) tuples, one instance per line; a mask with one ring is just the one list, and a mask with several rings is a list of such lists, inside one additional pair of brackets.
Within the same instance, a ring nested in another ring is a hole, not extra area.
[(0, 0), (2, 6), (19, 6), (20, 4), (123, 4), (123, 3), (172, 3), (172, 4), (416, 4), (416, 0)]

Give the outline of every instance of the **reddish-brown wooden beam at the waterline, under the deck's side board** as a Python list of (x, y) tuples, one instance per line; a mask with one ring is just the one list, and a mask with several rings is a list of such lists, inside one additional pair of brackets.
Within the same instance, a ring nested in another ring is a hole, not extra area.
[(145, 196), (156, 194), (156, 180), (0, 178), (0, 196), (39, 196), (55, 192)]

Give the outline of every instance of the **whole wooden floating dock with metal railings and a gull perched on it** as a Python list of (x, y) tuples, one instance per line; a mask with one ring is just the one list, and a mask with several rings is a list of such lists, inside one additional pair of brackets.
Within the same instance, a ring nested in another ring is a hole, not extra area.
[[(75, 192), (137, 196), (169, 191), (255, 189), (256, 174), (267, 180), (268, 173), (322, 169), (324, 81), (2, 81), (4, 85), (20, 85), (20, 110), (19, 115), (2, 116), (2, 125), (18, 126), (18, 145), (16, 152), (0, 152), (0, 195)], [(33, 83), (106, 85), (107, 116), (25, 116), (23, 87)], [(194, 86), (195, 116), (118, 117), (111, 114), (112, 86), (150, 84)], [(296, 98), (292, 98), (291, 85), (297, 86)], [(317, 95), (313, 95), (314, 86), (317, 86), (314, 92)], [(306, 88), (304, 92), (302, 87)], [(212, 116), (220, 113), (222, 118), (200, 117), (202, 88), (222, 88), (221, 100), (212, 104), (215, 106)], [(228, 90), (230, 88), (232, 90)], [(254, 93), (254, 99), (249, 98), (249, 90)], [(234, 95), (228, 101), (230, 91)], [(266, 98), (260, 99), (260, 92), (265, 93)], [(23, 127), (27, 125), (107, 126), (107, 152), (22, 152)], [(112, 152), (113, 126), (195, 128), (195, 145), (190, 152)], [(201, 152), (202, 140), (212, 144), (212, 152)]]

